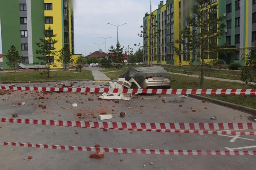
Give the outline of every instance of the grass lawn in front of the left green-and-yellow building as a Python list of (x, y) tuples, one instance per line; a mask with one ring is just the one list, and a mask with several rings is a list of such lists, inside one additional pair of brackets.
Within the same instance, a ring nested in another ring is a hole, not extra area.
[[(87, 71), (88, 72), (88, 71)], [(40, 72), (16, 72), (0, 73), (0, 82), (19, 82), (19, 81), (60, 81), (60, 80), (94, 80), (92, 73), (76, 74), (64, 71), (51, 71), (50, 79), (47, 75), (40, 75)]]

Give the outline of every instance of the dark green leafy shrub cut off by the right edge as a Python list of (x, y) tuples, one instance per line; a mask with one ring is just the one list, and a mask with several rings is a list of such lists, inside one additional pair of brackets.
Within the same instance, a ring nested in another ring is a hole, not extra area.
[[(256, 83), (256, 46), (252, 48), (250, 54), (245, 59), (245, 67), (242, 68), (241, 80)], [(253, 88), (256, 88), (255, 84), (250, 84)]]

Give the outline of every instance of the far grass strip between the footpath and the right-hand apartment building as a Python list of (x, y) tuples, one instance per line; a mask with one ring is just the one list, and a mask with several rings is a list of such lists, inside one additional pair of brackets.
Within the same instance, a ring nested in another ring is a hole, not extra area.
[[(172, 73), (182, 73), (182, 74), (190, 74), (190, 75), (200, 75), (197, 73), (200, 71), (200, 67), (180, 67), (180, 66), (172, 66), (172, 65), (161, 65), (168, 72)], [(227, 74), (227, 75), (223, 75)], [(234, 76), (232, 76), (234, 75)], [(222, 71), (222, 70), (205, 70), (205, 76), (207, 77), (216, 77), (222, 79), (232, 79), (232, 80), (240, 80), (240, 71)]]

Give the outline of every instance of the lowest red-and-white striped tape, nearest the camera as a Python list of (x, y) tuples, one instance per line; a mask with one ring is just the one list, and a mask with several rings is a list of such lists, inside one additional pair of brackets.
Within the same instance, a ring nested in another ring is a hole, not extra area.
[(20, 146), (28, 148), (42, 148), (53, 150), (75, 150), (84, 152), (108, 152), (121, 154), (157, 154), (157, 155), (194, 155), (194, 156), (256, 156), (256, 151), (229, 150), (160, 150), (160, 149), (130, 149), (130, 148), (95, 148), (85, 146), (64, 146), (52, 144), (30, 144), (21, 142), (0, 142), (3, 146)]

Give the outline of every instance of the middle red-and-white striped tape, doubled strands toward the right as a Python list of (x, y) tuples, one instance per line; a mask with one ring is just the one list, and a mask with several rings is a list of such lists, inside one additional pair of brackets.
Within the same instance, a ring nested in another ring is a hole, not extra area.
[[(100, 128), (112, 130), (136, 130), (153, 132), (233, 134), (234, 132), (218, 132), (216, 130), (256, 130), (256, 123), (120, 123), (120, 122), (88, 122), (57, 121), (37, 119), (0, 119), (2, 123), (27, 125), (49, 125), (58, 127)], [(210, 131), (208, 131), (210, 130)], [(237, 134), (254, 135), (255, 132), (237, 132)]]

